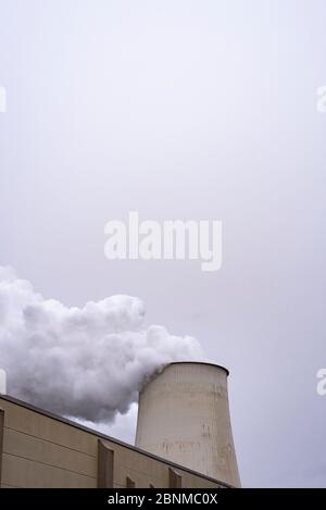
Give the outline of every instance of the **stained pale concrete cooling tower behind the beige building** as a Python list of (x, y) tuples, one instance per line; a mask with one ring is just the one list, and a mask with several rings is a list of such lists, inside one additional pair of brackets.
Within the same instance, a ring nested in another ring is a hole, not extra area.
[(228, 371), (171, 363), (139, 395), (136, 446), (236, 487)]

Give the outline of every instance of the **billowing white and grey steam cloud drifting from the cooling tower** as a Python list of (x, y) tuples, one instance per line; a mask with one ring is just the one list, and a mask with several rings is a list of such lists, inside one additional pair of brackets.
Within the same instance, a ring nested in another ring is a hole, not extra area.
[(112, 296), (67, 308), (0, 266), (0, 368), (8, 393), (91, 421), (124, 413), (171, 361), (201, 358), (197, 340), (143, 325), (141, 301)]

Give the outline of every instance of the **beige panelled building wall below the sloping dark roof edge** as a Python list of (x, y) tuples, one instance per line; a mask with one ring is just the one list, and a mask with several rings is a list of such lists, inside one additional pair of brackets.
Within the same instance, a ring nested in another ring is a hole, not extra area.
[(223, 487), (66, 420), (0, 396), (1, 487)]

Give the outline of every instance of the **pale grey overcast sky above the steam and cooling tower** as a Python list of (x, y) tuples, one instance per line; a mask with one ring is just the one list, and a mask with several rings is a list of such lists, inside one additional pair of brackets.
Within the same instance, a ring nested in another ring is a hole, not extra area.
[[(244, 486), (326, 487), (325, 50), (323, 0), (0, 0), (0, 264), (196, 336)], [(222, 220), (223, 268), (108, 261), (131, 210)]]

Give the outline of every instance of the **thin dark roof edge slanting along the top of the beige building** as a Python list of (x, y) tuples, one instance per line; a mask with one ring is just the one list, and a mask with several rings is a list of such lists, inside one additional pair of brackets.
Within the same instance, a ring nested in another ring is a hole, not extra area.
[[(208, 364), (213, 364), (213, 363), (208, 363)], [(111, 437), (111, 436), (108, 436), (106, 434), (95, 431), (93, 428), (89, 428), (88, 426), (80, 425), (79, 423), (74, 422), (73, 420), (68, 420), (67, 418), (60, 416), (59, 414), (55, 414), (51, 411), (47, 411), (45, 409), (38, 408), (37, 406), (34, 406), (33, 403), (28, 403), (28, 402), (25, 402), (23, 400), (20, 400), (18, 398), (11, 397), (9, 395), (3, 395), (3, 394), (0, 393), (0, 402), (1, 402), (1, 400), (7, 400), (8, 402), (15, 403), (16, 406), (21, 406), (22, 408), (28, 409), (29, 411), (37, 412), (38, 414), (42, 414), (43, 416), (51, 418), (52, 420), (57, 420), (58, 422), (65, 423), (66, 425), (73, 426), (75, 428), (79, 428), (80, 431), (92, 434), (93, 436), (100, 437), (101, 439), (105, 439), (105, 440), (109, 440), (111, 443), (114, 443), (115, 445), (123, 446), (125, 448), (128, 448), (129, 450), (136, 451), (138, 453), (145, 455), (146, 457), (150, 457), (151, 459), (163, 462), (164, 464), (171, 465), (172, 468), (176, 468), (176, 469), (186, 471), (187, 473), (193, 474), (196, 476), (201, 476), (204, 480), (208, 480), (208, 481), (213, 482), (215, 484), (223, 485), (226, 488), (234, 488), (233, 485), (229, 485), (225, 482), (221, 482), (220, 480), (213, 478), (212, 476), (208, 476), (203, 473), (199, 473), (198, 471), (195, 471), (195, 470), (191, 470), (191, 469), (186, 468), (184, 465), (177, 464), (177, 463), (172, 462), (167, 459), (163, 459), (162, 457), (159, 457), (154, 453), (150, 453), (149, 451), (146, 451), (146, 450), (142, 450), (141, 448), (129, 445), (128, 443), (124, 443), (120, 439), (115, 439), (114, 437)]]

